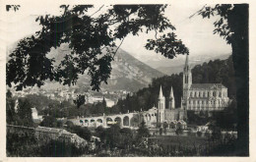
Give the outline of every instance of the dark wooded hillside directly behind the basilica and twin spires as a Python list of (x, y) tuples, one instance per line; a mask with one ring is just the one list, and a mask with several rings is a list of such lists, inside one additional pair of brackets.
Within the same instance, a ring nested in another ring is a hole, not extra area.
[[(228, 88), (228, 97), (235, 97), (235, 81), (232, 59), (215, 60), (202, 65), (197, 65), (192, 69), (193, 83), (223, 83)], [(130, 111), (149, 110), (158, 104), (160, 85), (163, 95), (169, 96), (170, 86), (173, 88), (175, 107), (180, 107), (182, 96), (183, 74), (174, 74), (154, 79), (149, 87), (145, 87), (136, 92), (133, 96), (127, 95), (123, 100), (119, 100), (113, 107), (116, 112), (122, 113)]]

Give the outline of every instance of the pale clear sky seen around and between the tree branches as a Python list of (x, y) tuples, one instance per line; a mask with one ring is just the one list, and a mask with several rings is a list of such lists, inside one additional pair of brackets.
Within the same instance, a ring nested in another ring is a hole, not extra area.
[[(99, 6), (101, 5), (96, 6), (94, 10), (97, 10)], [(230, 45), (227, 45), (224, 39), (218, 34), (213, 34), (213, 23), (217, 18), (202, 19), (201, 16), (196, 15), (189, 19), (191, 15), (202, 7), (202, 4), (197, 3), (169, 5), (164, 15), (176, 27), (174, 32), (177, 38), (181, 39), (189, 48), (190, 55), (220, 55), (230, 53)], [(107, 7), (104, 6), (100, 12), (103, 13), (106, 9)], [(6, 44), (12, 45), (23, 37), (39, 30), (40, 26), (35, 23), (37, 16), (44, 14), (59, 15), (60, 13), (59, 5), (54, 3), (50, 7), (49, 4), (27, 4), (21, 6), (17, 12), (6, 12), (3, 20), (7, 25), (5, 27), (7, 34), (7, 38), (5, 39)], [(155, 32), (148, 34), (140, 33), (139, 36), (128, 35), (124, 39), (121, 48), (141, 61), (148, 59), (162, 60), (163, 57), (160, 54), (156, 54), (154, 51), (148, 51), (144, 47), (147, 39), (154, 38), (154, 36)]]

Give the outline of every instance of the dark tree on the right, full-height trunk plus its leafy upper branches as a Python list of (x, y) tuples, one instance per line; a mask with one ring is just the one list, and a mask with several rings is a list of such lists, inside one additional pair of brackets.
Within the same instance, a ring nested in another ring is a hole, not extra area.
[(220, 34), (232, 47), (236, 81), (238, 145), (240, 155), (249, 154), (249, 41), (248, 4), (205, 6), (198, 12), (203, 18), (218, 16), (214, 33)]

